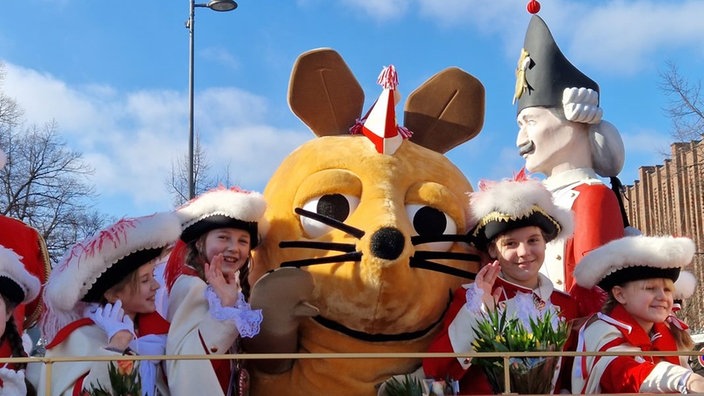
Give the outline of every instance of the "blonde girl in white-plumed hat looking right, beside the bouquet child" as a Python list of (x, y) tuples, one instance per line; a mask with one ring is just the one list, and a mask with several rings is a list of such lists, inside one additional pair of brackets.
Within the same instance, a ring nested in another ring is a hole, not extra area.
[(671, 351), (667, 356), (577, 356), (573, 393), (701, 393), (704, 377), (686, 356), (692, 338), (672, 313), (675, 281), (692, 261), (689, 238), (631, 236), (590, 252), (574, 275), (609, 293), (601, 312), (579, 331), (577, 351)]

